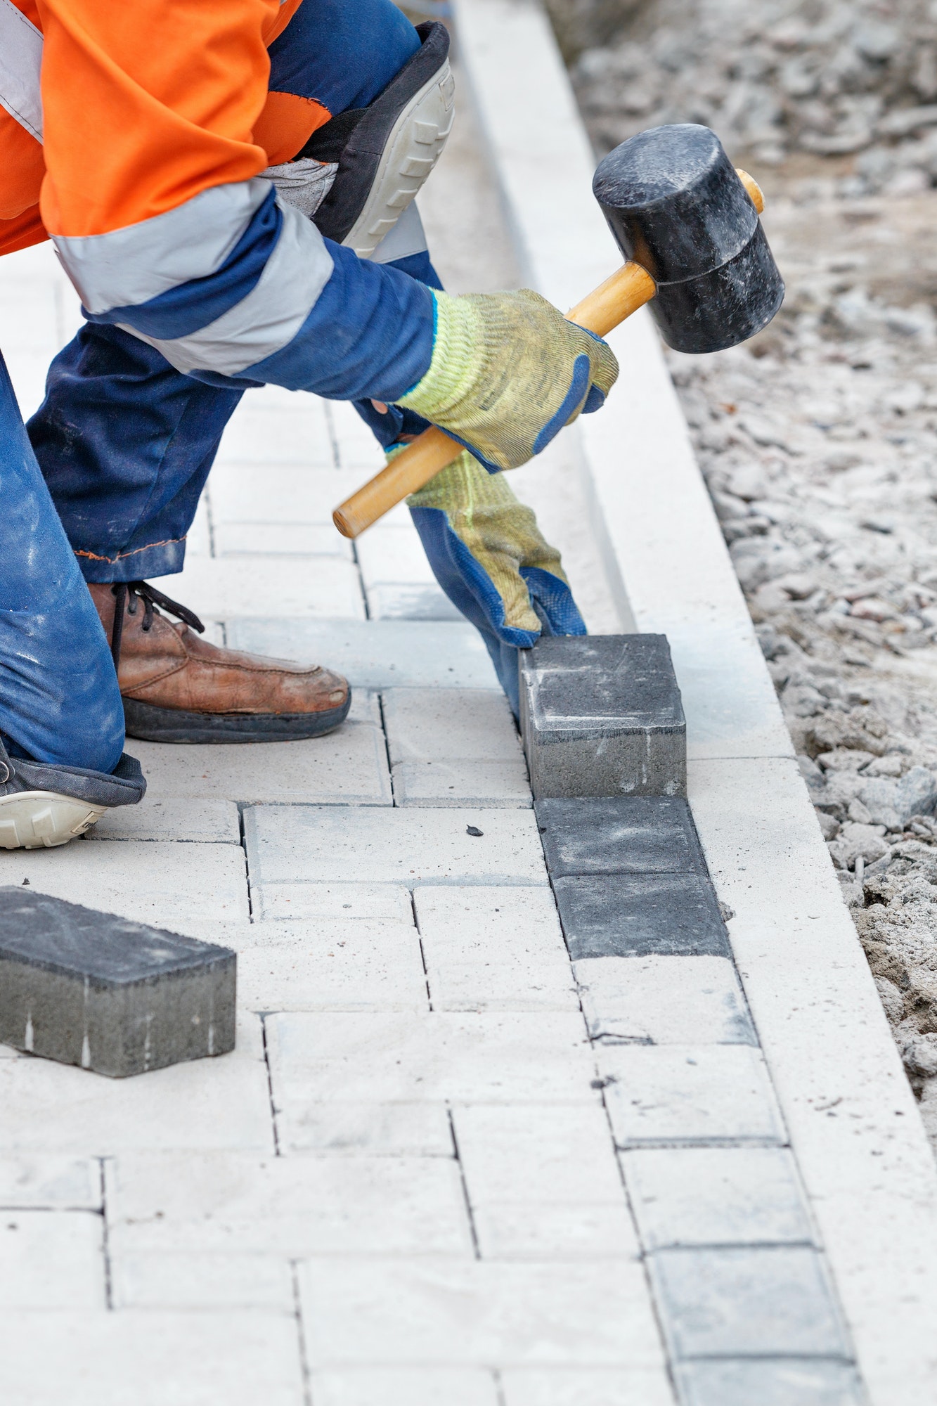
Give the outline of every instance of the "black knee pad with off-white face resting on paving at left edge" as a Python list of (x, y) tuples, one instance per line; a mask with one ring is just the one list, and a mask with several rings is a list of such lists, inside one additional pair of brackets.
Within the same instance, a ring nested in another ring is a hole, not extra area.
[(146, 780), (127, 752), (113, 772), (10, 756), (0, 742), (0, 849), (52, 849), (83, 835), (113, 806), (135, 806)]

